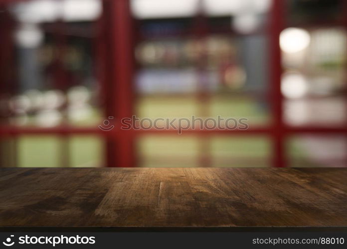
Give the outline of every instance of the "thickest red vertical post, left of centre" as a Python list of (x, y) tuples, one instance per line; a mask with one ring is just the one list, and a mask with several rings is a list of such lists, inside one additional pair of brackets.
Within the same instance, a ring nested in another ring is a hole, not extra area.
[[(116, 121), (116, 129), (112, 132), (113, 151), (108, 151), (111, 167), (135, 166), (134, 133), (121, 130), (121, 120), (133, 115), (134, 93), (134, 54), (132, 16), (129, 0), (110, 0), (110, 58), (112, 84), (112, 105), (110, 116)], [(112, 164), (111, 164), (112, 163)]]

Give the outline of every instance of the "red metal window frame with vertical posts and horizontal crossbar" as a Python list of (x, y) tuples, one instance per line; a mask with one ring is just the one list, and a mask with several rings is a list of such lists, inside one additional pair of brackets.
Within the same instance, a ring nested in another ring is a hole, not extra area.
[[(0, 3), (6, 2), (0, 0)], [(270, 98), (272, 123), (266, 127), (250, 127), (248, 130), (184, 130), (184, 134), (196, 134), (199, 137), (210, 135), (265, 135), (272, 141), (272, 166), (288, 166), (285, 142), (290, 135), (311, 134), (345, 134), (345, 127), (289, 127), (283, 123), (283, 97), (280, 83), (282, 75), (281, 50), (279, 35), (285, 27), (284, 0), (273, 0), (269, 20), (270, 45)], [(59, 134), (67, 137), (72, 134), (95, 134), (106, 139), (106, 166), (131, 167), (136, 166), (135, 139), (138, 136), (153, 134), (176, 135), (176, 130), (120, 130), (120, 120), (134, 114), (133, 75), (134, 62), (134, 30), (130, 12), (129, 0), (103, 0), (104, 11), (98, 23), (98, 38), (96, 40), (97, 75), (101, 82), (101, 100), (105, 117), (114, 117), (116, 128), (112, 131), (102, 131), (97, 127), (54, 128), (17, 128), (0, 127), (0, 136), (15, 137), (22, 134)], [(347, 13), (347, 4), (344, 8)], [(347, 14), (344, 15), (347, 28)], [(200, 96), (200, 95), (198, 95)], [(205, 99), (206, 96), (199, 98)], [(183, 135), (184, 135), (183, 134)], [(200, 158), (201, 166), (208, 166), (205, 157)]]

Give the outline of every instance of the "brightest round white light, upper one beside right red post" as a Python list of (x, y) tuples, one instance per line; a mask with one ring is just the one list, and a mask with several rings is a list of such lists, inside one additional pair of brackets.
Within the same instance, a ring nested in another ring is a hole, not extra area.
[(286, 53), (296, 53), (310, 44), (310, 34), (301, 28), (286, 28), (280, 35), (281, 49)]

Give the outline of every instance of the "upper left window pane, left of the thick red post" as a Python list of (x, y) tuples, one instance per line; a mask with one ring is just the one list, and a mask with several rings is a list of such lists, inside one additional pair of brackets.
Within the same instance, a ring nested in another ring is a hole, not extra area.
[(1, 73), (10, 79), (1, 87), (3, 123), (99, 124), (94, 25), (101, 1), (30, 0), (6, 7), (13, 24), (7, 49), (13, 50), (10, 70)]

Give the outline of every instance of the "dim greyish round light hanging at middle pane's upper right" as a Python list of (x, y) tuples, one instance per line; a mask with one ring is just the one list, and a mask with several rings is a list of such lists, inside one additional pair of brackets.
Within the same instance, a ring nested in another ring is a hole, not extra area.
[(255, 14), (237, 15), (232, 20), (233, 28), (242, 34), (248, 34), (257, 29), (259, 18)]

